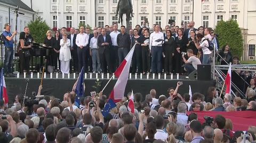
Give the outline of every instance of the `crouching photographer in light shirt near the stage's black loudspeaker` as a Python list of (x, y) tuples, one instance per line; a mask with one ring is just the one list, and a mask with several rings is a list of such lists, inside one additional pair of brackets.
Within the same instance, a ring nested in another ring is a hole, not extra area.
[(197, 58), (193, 54), (193, 50), (192, 49), (188, 49), (187, 50), (187, 55), (189, 57), (188, 60), (186, 60), (184, 55), (182, 57), (183, 57), (183, 61), (185, 62), (185, 69), (188, 72), (188, 74), (190, 74), (194, 70), (197, 70), (197, 65), (201, 64), (201, 61), (199, 60), (199, 58)]

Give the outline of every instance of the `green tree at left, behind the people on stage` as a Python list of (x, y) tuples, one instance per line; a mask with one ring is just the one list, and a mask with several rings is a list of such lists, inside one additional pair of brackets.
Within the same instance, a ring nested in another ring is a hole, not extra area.
[(28, 23), (28, 28), (36, 43), (43, 43), (44, 38), (46, 37), (46, 32), (50, 29), (40, 16), (37, 16), (35, 21), (30, 21)]

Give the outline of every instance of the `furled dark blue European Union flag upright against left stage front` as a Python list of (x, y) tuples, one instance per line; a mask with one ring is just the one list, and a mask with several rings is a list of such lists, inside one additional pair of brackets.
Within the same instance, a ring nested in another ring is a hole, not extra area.
[(84, 96), (84, 67), (82, 68), (76, 84), (76, 104), (80, 105), (80, 98)]

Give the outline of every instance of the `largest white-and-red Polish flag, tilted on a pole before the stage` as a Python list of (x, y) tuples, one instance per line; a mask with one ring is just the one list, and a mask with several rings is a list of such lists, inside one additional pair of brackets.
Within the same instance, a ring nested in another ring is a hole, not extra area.
[(119, 65), (115, 72), (115, 76), (118, 78), (114, 89), (111, 91), (109, 98), (113, 99), (115, 103), (121, 101), (124, 97), (124, 90), (129, 77), (129, 70), (132, 61), (132, 55), (134, 52), (135, 45), (132, 47), (131, 51), (124, 58), (124, 61)]

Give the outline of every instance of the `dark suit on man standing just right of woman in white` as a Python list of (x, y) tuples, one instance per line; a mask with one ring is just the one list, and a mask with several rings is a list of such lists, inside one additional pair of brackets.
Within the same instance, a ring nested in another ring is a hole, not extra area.
[[(71, 44), (71, 34), (68, 35), (68, 39), (70, 40), (70, 44)], [(79, 72), (78, 71), (78, 57), (77, 57), (77, 45), (76, 45), (76, 34), (74, 34), (74, 37), (73, 37), (73, 47), (70, 47), (70, 48), (73, 48), (73, 50), (70, 49), (70, 52), (71, 52), (71, 57), (72, 57), (72, 60), (70, 61), (70, 72), (72, 71), (72, 66), (73, 66), (73, 69), (74, 69), (74, 72)]]

